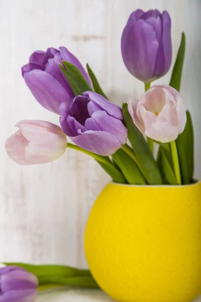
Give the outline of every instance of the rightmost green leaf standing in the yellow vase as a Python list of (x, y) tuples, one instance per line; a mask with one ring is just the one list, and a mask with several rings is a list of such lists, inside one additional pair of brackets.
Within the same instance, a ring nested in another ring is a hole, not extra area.
[(194, 135), (189, 111), (186, 111), (186, 118), (184, 131), (176, 139), (181, 179), (184, 185), (193, 182), (194, 173)]

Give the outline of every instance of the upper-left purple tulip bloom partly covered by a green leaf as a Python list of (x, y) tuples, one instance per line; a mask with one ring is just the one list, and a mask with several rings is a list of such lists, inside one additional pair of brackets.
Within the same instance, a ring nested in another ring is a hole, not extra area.
[(29, 63), (22, 67), (22, 75), (36, 100), (46, 109), (59, 114), (59, 105), (72, 100), (75, 95), (70, 84), (59, 68), (62, 60), (77, 66), (84, 78), (91, 85), (90, 78), (79, 60), (65, 47), (47, 51), (35, 51)]

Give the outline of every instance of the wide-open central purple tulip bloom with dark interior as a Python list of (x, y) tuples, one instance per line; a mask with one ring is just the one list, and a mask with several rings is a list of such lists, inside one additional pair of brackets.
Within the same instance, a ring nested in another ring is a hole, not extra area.
[(102, 155), (114, 154), (127, 141), (122, 109), (101, 95), (86, 91), (60, 106), (60, 124), (78, 146)]

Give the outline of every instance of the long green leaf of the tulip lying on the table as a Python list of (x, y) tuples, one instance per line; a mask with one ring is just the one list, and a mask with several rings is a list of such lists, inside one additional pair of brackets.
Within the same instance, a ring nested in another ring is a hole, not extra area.
[(4, 264), (7, 266), (14, 265), (22, 267), (37, 276), (39, 280), (39, 289), (55, 287), (58, 285), (98, 288), (98, 285), (89, 270), (81, 270), (62, 265), (32, 265), (26, 263)]

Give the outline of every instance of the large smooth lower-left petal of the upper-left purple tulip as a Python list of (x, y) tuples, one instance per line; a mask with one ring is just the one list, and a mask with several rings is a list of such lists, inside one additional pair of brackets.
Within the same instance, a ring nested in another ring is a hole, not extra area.
[(24, 79), (36, 100), (46, 109), (59, 114), (59, 105), (70, 99), (63, 86), (50, 74), (34, 69)]

